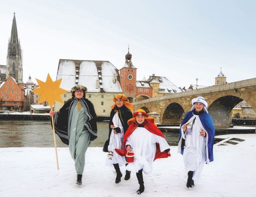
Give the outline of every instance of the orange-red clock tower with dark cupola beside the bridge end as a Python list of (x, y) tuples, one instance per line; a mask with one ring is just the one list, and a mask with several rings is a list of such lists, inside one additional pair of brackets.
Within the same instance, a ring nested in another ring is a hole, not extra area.
[(120, 83), (123, 93), (133, 102), (136, 97), (136, 74), (137, 68), (131, 62), (131, 54), (129, 52), (125, 55), (125, 65), (120, 69)]

